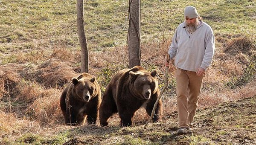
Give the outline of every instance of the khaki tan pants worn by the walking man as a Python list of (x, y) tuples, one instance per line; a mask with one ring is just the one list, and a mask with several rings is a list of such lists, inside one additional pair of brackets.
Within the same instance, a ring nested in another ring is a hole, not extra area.
[(197, 76), (196, 72), (177, 68), (177, 110), (179, 128), (189, 128), (195, 117), (198, 99), (204, 76)]

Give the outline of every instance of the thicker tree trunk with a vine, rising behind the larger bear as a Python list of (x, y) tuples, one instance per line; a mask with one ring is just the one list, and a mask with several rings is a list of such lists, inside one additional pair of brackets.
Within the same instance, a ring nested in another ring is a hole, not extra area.
[(129, 0), (128, 50), (129, 68), (140, 66), (140, 0)]

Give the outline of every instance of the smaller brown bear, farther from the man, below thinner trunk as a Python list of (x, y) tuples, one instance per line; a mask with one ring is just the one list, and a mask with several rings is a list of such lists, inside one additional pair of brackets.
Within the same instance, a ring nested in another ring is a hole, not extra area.
[(101, 102), (101, 91), (95, 77), (81, 73), (65, 87), (61, 94), (60, 106), (67, 125), (84, 123), (96, 124)]

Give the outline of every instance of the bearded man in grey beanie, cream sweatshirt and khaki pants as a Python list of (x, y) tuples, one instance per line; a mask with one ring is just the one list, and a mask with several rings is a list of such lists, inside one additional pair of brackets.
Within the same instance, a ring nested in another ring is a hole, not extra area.
[[(192, 128), (204, 72), (212, 62), (215, 48), (212, 28), (202, 21), (195, 7), (187, 6), (184, 17), (168, 52), (171, 61), (175, 58), (177, 67), (178, 134), (187, 133)], [(169, 67), (169, 62), (165, 65)]]

